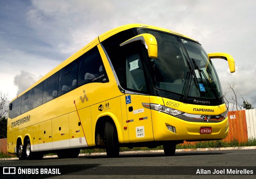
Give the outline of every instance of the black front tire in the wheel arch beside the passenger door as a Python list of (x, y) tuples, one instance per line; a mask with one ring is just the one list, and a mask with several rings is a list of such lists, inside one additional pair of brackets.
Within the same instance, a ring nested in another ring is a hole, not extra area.
[(118, 157), (120, 148), (116, 127), (110, 122), (105, 123), (104, 142), (108, 157)]

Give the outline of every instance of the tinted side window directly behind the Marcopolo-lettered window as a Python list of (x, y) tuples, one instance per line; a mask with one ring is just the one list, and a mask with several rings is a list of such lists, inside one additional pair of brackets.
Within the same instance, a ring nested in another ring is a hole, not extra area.
[[(58, 95), (67, 93), (77, 87), (77, 61), (60, 70)], [(55, 98), (56, 95), (53, 94)]]

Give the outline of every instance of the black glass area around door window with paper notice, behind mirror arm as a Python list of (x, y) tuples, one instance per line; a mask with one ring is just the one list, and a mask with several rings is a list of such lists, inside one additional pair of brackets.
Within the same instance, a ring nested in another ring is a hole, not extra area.
[(120, 47), (120, 44), (134, 37), (132, 30), (120, 32), (102, 42), (110, 57), (119, 83), (131, 91), (147, 91), (142, 58), (145, 47), (141, 42), (132, 42)]

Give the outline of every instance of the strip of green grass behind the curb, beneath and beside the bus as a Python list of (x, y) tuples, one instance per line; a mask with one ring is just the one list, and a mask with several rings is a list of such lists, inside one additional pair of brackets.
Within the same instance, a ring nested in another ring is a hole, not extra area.
[[(176, 145), (176, 149), (197, 149), (197, 148), (220, 148), (220, 147), (248, 147), (248, 146), (256, 146), (256, 138), (250, 138), (248, 141), (238, 142), (237, 139), (233, 139), (232, 141), (226, 142), (222, 140), (217, 141), (202, 141), (196, 143), (187, 143), (187, 144), (179, 144)], [(148, 147), (134, 147), (133, 149), (129, 149), (128, 147), (120, 147), (120, 151), (149, 151), (149, 150), (162, 150), (163, 146), (158, 146), (153, 149), (149, 149)], [(102, 153), (106, 152), (105, 149), (85, 149), (81, 150), (80, 153)], [(51, 153), (47, 155), (56, 155), (56, 153)], [(16, 155), (4, 154), (0, 152), (0, 158), (12, 158), (16, 157)]]

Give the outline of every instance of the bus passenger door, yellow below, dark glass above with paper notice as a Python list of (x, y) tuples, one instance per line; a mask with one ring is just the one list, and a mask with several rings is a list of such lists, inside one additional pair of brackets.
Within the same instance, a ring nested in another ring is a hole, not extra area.
[[(127, 89), (125, 100), (127, 123), (130, 142), (154, 141), (151, 111), (143, 107), (142, 103), (150, 103), (146, 73), (142, 58), (145, 58), (142, 44), (127, 46), (125, 56), (125, 76)], [(130, 48), (130, 50), (129, 50)], [(129, 91), (129, 92), (128, 92)], [(129, 94), (128, 94), (129, 93)]]

